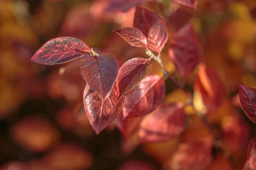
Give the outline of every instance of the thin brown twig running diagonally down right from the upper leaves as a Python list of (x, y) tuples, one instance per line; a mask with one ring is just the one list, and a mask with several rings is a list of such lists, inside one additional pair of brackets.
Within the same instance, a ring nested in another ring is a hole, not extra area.
[(207, 130), (209, 131), (210, 136), (212, 137), (212, 141), (213, 141), (213, 145), (214, 147), (218, 148), (219, 150), (221, 150), (221, 152), (223, 152), (223, 150), (221, 149), (221, 142), (219, 140), (217, 140), (215, 138), (215, 135), (213, 133), (213, 128), (212, 126), (210, 126), (207, 122), (206, 116), (203, 113), (198, 112), (195, 107), (193, 106), (193, 99), (191, 94), (189, 94), (188, 91), (185, 90), (184, 88), (184, 80), (182, 80), (181, 82), (178, 82), (175, 77), (172, 76), (172, 74), (170, 74), (166, 67), (163, 65), (162, 59), (159, 56), (154, 55), (149, 49), (146, 49), (145, 51), (146, 55), (151, 59), (153, 58), (156, 62), (159, 63), (159, 65), (162, 67), (163, 69), (163, 73), (164, 73), (164, 78), (165, 77), (169, 77), (169, 79), (172, 80), (172, 82), (180, 89), (182, 89), (182, 91), (186, 94), (187, 97), (187, 102), (186, 105), (191, 105), (195, 111), (195, 113), (198, 115), (199, 118), (201, 118), (201, 120), (203, 121), (205, 127), (207, 128)]

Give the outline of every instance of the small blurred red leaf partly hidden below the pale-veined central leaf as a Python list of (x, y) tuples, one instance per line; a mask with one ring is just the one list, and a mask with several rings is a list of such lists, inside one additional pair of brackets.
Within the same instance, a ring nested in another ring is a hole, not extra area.
[[(126, 97), (125, 97), (126, 98)], [(130, 119), (123, 119), (122, 111), (114, 120), (114, 124), (119, 129), (119, 131), (123, 134), (123, 136), (128, 139), (131, 135), (133, 135), (140, 126), (140, 122), (143, 117), (135, 117)]]

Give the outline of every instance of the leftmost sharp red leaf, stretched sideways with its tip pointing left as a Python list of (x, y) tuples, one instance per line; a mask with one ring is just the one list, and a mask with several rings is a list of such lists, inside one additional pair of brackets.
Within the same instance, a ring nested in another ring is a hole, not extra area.
[(61, 64), (83, 55), (89, 55), (90, 48), (74, 37), (58, 37), (47, 41), (31, 60), (40, 64)]

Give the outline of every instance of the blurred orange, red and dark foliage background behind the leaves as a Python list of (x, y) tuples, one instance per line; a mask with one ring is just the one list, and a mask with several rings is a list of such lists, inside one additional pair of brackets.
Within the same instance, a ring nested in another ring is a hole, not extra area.
[[(209, 163), (200, 167), (198, 161), (194, 170), (242, 169), (255, 125), (241, 109), (237, 83), (256, 87), (255, 0), (198, 0), (195, 11), (172, 0), (0, 0), (0, 170), (171, 170), (182, 154), (193, 162), (194, 152), (177, 147), (209, 139), (209, 133), (191, 109), (184, 133), (168, 142), (140, 144), (136, 133), (125, 139), (114, 124), (96, 136), (82, 104), (84, 59), (61, 65), (29, 60), (46, 41), (61, 36), (112, 54), (119, 66), (146, 57), (145, 49), (112, 32), (133, 26), (137, 5), (163, 17), (169, 42), (192, 23), (204, 45), (203, 62), (224, 83), (227, 97), (217, 111), (207, 113), (208, 122), (221, 131), (224, 154), (213, 150)], [(167, 42), (163, 61), (175, 71), (168, 47)], [(162, 74), (155, 62), (151, 74)], [(186, 79), (191, 92), (196, 75)], [(165, 102), (186, 103), (169, 80)]]

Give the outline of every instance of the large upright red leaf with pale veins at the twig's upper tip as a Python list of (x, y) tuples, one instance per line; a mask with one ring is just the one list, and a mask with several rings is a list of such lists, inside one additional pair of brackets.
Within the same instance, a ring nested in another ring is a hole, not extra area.
[(168, 40), (168, 31), (163, 19), (154, 12), (137, 6), (134, 27), (143, 32), (147, 38), (148, 48), (160, 54)]

